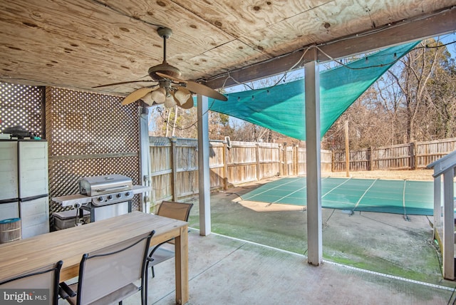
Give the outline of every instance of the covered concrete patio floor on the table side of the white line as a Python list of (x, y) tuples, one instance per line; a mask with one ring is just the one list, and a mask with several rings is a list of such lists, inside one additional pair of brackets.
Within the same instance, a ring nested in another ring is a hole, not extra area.
[[(150, 276), (150, 275), (149, 275)], [(174, 259), (155, 267), (148, 304), (175, 304)], [(323, 262), (218, 234), (189, 233), (187, 304), (447, 304), (452, 289)], [(140, 304), (136, 294), (123, 304)]]

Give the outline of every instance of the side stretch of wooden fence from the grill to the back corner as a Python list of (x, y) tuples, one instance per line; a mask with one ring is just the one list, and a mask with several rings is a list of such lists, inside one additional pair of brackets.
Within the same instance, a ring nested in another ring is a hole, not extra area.
[[(150, 137), (152, 206), (198, 193), (197, 140)], [(209, 141), (211, 190), (274, 176), (305, 175), (306, 149), (277, 143)], [(322, 150), (321, 170), (331, 171), (331, 151)]]

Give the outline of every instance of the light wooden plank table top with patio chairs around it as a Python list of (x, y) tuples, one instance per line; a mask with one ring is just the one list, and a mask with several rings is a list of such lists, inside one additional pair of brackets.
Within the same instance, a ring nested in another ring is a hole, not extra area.
[(61, 281), (78, 275), (84, 253), (103, 249), (112, 244), (147, 234), (155, 230), (151, 244), (159, 244), (187, 231), (187, 222), (143, 212), (131, 212), (117, 217), (62, 229), (0, 244), (0, 281), (30, 272), (38, 267), (63, 260)]

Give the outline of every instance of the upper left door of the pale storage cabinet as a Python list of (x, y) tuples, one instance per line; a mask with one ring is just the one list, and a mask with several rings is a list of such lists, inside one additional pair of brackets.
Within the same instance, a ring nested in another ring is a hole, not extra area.
[(0, 141), (0, 200), (19, 198), (17, 141)]

